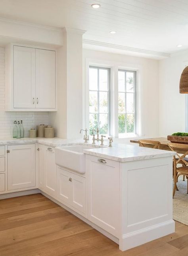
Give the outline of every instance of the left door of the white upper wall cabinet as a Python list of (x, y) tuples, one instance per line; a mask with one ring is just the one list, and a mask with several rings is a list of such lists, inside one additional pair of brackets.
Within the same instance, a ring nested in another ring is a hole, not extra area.
[(35, 49), (14, 46), (14, 108), (35, 108)]

